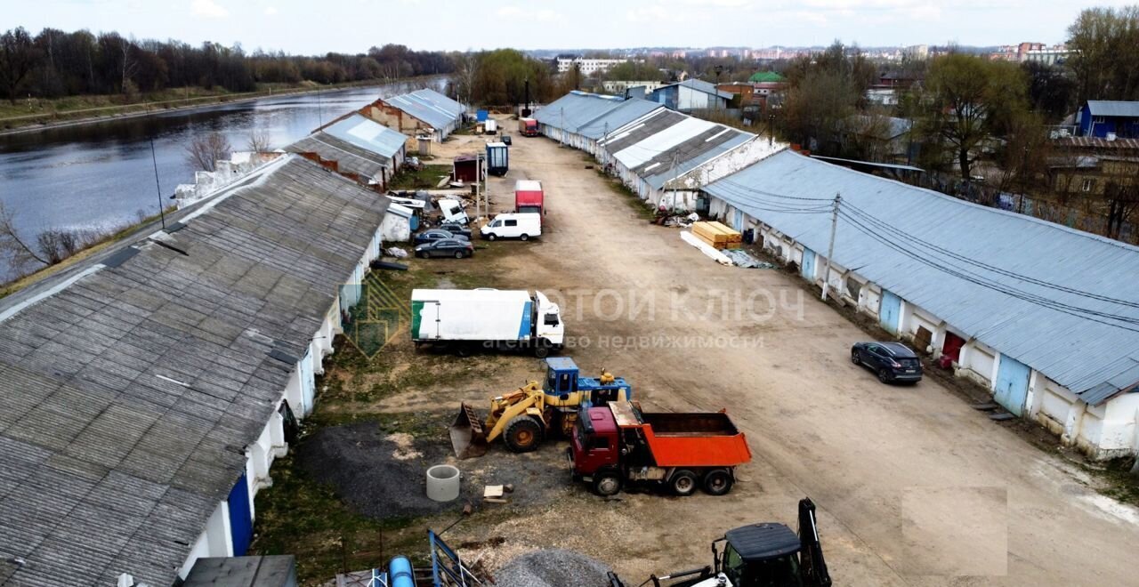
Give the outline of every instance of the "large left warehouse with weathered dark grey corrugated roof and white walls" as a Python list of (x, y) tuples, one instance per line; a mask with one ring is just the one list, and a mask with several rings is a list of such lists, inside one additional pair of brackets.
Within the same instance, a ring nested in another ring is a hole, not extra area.
[(281, 156), (5, 300), (6, 585), (169, 586), (198, 557), (245, 554), (386, 202)]

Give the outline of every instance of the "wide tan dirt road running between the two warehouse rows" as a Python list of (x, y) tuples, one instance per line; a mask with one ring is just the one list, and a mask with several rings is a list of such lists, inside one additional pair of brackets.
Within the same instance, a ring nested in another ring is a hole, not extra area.
[(866, 336), (794, 278), (722, 267), (648, 225), (580, 151), (521, 137), (511, 150), (489, 191), (503, 207), (515, 179), (542, 180), (549, 228), (494, 259), (497, 286), (560, 296), (566, 354), (632, 381), (647, 408), (727, 407), (755, 460), (727, 497), (587, 497), (577, 515), (543, 511), (497, 534), (587, 545), (639, 582), (710, 562), (708, 541), (734, 526), (794, 527), (806, 495), (836, 585), (1139, 581), (1139, 516), (1075, 468), (936, 381), (878, 383), (850, 362)]

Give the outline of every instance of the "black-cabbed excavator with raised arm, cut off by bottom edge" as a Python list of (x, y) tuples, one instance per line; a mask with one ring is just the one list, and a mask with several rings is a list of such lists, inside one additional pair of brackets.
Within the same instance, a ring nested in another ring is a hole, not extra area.
[[(721, 548), (722, 544), (722, 548)], [(625, 587), (609, 573), (609, 587)], [(743, 526), (712, 543), (712, 564), (649, 577), (637, 587), (830, 587), (814, 503), (798, 502), (798, 535), (777, 522)]]

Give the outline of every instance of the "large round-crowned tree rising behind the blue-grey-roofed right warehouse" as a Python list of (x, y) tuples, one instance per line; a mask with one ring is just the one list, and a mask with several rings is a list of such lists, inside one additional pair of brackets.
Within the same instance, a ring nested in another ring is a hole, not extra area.
[(1024, 72), (1007, 61), (952, 53), (934, 59), (926, 76), (920, 132), (935, 137), (969, 181), (982, 147), (1026, 109)]

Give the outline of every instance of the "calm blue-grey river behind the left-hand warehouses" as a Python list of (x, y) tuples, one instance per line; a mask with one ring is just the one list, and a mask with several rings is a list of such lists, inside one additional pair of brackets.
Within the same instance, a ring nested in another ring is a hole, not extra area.
[[(0, 201), (30, 240), (47, 229), (123, 226), (158, 212), (151, 140), (162, 202), (170, 206), (174, 187), (194, 177), (186, 147), (197, 134), (219, 131), (244, 150), (259, 132), (277, 149), (376, 98), (445, 83), (435, 77), (0, 135)], [(0, 266), (0, 281), (7, 274)]]

